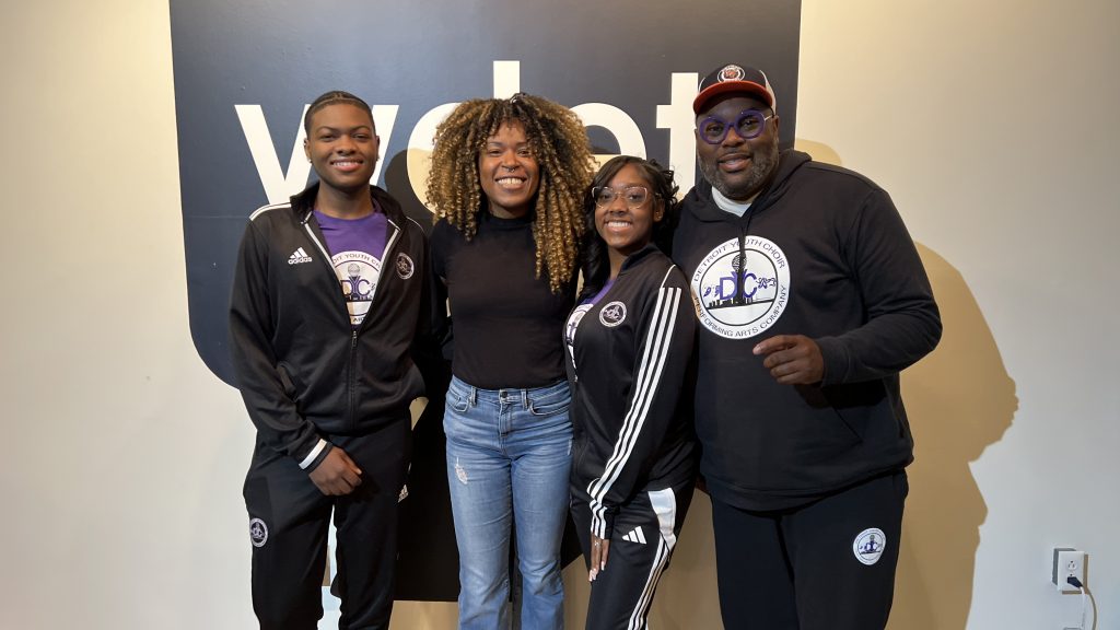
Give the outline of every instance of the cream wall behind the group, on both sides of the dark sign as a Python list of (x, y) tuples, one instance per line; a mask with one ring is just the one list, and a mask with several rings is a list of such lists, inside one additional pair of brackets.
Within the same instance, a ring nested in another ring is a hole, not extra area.
[[(1098, 628), (1120, 628), (1120, 4), (803, 9), (801, 146), (892, 192), (944, 309), (904, 379), (918, 460), (892, 628), (1074, 626), (1054, 545), (1089, 552)], [(0, 628), (252, 627), (252, 432), (190, 343), (166, 2), (6, 2), (0, 24)], [(706, 507), (662, 628), (716, 623)]]

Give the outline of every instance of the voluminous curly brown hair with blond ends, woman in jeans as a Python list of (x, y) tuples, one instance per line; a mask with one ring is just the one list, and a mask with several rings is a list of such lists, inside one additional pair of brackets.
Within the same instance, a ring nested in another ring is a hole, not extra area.
[(533, 200), (536, 277), (545, 274), (552, 293), (560, 293), (578, 266), (585, 230), (581, 201), (595, 170), (587, 131), (571, 110), (529, 94), (459, 104), (436, 129), (428, 204), (436, 221), (447, 221), (468, 241), (475, 235), (478, 213), (487, 203), (478, 156), (486, 140), (511, 120), (524, 126), (541, 170)]

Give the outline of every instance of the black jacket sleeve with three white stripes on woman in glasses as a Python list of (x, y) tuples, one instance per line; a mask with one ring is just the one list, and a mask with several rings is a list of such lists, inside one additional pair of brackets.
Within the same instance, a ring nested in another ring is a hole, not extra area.
[(591, 532), (608, 540), (618, 506), (634, 495), (656, 463), (678, 413), (696, 334), (688, 282), (675, 267), (644, 305), (635, 330), (637, 346), (625, 416), (603, 474), (587, 488)]

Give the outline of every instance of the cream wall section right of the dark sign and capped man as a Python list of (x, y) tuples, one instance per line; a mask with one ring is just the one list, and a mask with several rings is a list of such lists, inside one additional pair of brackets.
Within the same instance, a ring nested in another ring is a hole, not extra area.
[(892, 192), (944, 311), (904, 379), (898, 630), (1076, 626), (1055, 545), (1120, 628), (1118, 24), (1113, 0), (804, 2), (799, 136)]

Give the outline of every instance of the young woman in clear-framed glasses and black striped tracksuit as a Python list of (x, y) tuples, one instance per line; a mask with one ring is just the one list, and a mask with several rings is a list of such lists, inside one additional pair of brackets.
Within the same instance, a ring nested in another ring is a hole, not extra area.
[[(645, 628), (692, 499), (694, 317), (668, 242), (672, 172), (619, 156), (585, 205), (584, 290), (564, 332), (571, 511), (588, 562), (587, 628)], [(656, 238), (662, 237), (664, 238)]]

